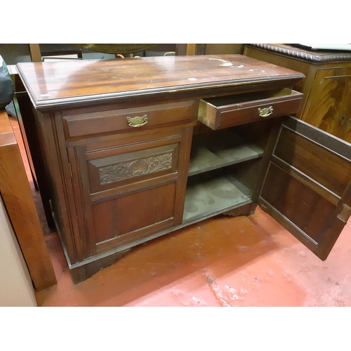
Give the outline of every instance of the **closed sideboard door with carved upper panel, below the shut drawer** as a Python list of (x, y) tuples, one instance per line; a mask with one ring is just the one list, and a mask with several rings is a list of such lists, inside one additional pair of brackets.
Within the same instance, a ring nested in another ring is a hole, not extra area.
[(86, 257), (182, 221), (192, 127), (69, 147)]

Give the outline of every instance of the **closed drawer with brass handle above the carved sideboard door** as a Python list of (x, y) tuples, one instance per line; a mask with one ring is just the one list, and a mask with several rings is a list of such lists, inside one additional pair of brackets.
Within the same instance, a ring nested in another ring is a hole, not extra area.
[(191, 100), (100, 112), (62, 112), (62, 120), (66, 138), (74, 138), (113, 131), (140, 131), (195, 121), (197, 107), (198, 102)]

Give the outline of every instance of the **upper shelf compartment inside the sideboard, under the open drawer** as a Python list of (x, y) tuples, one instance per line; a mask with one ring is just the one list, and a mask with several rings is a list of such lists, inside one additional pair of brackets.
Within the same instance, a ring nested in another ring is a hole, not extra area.
[(188, 176), (262, 156), (263, 149), (246, 143), (239, 135), (227, 129), (206, 135), (194, 135)]

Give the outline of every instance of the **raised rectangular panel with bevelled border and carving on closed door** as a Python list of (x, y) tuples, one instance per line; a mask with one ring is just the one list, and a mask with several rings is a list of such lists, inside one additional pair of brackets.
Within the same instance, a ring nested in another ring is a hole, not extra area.
[(88, 161), (92, 193), (176, 173), (178, 168), (178, 143), (126, 153), (117, 149), (117, 152)]

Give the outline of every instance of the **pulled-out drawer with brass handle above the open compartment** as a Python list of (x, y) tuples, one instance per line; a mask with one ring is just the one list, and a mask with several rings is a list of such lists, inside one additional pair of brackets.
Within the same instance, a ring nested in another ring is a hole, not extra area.
[(289, 88), (209, 98), (200, 100), (197, 119), (213, 130), (227, 128), (295, 114), (302, 98), (303, 93)]

